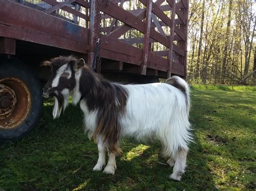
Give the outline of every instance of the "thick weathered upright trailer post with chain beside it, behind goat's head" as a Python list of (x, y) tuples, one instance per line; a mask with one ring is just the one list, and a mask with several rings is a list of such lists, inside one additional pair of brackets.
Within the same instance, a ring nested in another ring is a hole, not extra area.
[(88, 53), (88, 65), (92, 66), (94, 49), (96, 46), (96, 41), (99, 38), (99, 1), (102, 0), (91, 0), (90, 8), (90, 34), (89, 34), (89, 53)]

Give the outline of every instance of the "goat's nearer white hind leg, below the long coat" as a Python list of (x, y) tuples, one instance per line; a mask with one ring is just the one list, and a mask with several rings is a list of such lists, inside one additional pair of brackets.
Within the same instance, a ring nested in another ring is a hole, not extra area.
[(181, 148), (174, 158), (175, 164), (173, 167), (173, 173), (170, 175), (170, 178), (173, 180), (180, 180), (181, 174), (185, 172), (186, 168), (187, 150)]

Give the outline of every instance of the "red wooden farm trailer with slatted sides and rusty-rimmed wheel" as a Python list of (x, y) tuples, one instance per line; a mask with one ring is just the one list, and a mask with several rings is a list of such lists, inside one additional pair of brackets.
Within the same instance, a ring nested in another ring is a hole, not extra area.
[(185, 77), (187, 15), (188, 0), (0, 0), (0, 142), (35, 127), (55, 56), (98, 56), (114, 81)]

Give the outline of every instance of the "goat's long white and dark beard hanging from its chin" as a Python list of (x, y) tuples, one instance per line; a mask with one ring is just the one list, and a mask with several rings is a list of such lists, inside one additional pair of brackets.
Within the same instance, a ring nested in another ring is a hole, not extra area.
[(62, 109), (65, 111), (66, 107), (69, 104), (69, 90), (63, 90), (62, 93), (54, 96), (54, 107), (52, 110), (53, 119), (56, 119), (60, 116)]

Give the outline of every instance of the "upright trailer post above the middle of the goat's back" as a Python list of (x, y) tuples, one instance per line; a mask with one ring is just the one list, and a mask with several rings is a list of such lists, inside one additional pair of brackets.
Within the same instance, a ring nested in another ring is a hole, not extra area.
[(144, 44), (143, 44), (143, 53), (142, 53), (142, 69), (140, 71), (140, 74), (142, 75), (146, 75), (146, 70), (147, 70), (147, 55), (149, 53), (152, 2), (153, 0), (147, 0), (147, 6), (146, 6), (146, 25), (145, 25)]

